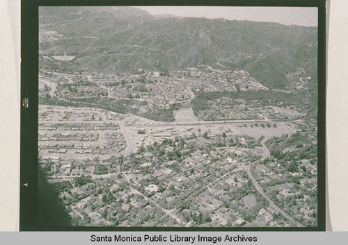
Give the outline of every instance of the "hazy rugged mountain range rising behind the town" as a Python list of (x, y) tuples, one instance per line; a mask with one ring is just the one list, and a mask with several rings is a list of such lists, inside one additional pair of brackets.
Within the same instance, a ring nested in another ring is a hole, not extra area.
[(272, 88), (285, 87), (286, 74), (299, 68), (317, 76), (316, 27), (153, 16), (132, 7), (40, 7), (39, 18), (40, 35), (56, 36), (40, 41), (40, 53), (75, 56), (66, 65), (74, 69), (124, 72), (209, 65), (244, 69)]

